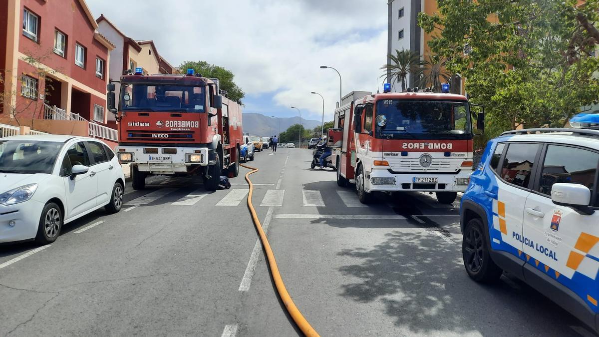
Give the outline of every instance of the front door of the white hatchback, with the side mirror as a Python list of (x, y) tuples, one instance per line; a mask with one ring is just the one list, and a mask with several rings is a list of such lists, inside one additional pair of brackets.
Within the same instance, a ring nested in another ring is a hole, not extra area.
[(89, 155), (83, 142), (71, 145), (62, 160), (60, 176), (65, 184), (65, 219), (77, 216), (96, 206), (97, 177), (90, 168), (87, 173), (71, 176), (75, 165), (90, 166)]

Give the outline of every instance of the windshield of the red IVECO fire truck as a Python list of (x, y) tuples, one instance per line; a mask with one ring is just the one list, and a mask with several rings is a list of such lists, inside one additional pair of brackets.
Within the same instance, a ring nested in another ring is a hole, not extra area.
[(122, 111), (205, 112), (205, 86), (123, 84)]

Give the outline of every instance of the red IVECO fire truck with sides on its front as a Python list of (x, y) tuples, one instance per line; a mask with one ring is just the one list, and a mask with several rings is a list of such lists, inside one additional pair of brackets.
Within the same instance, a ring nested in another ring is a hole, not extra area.
[(237, 176), (241, 107), (222, 93), (217, 79), (191, 69), (186, 75), (143, 75), (137, 68), (120, 78), (117, 110), (114, 84), (108, 85), (108, 109), (119, 122), (116, 153), (131, 163), (134, 189), (143, 189), (153, 174), (201, 176), (209, 191), (221, 174)]

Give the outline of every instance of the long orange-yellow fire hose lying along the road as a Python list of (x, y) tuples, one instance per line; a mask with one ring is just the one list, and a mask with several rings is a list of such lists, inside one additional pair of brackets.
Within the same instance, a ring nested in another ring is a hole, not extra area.
[(254, 209), (254, 206), (252, 204), (252, 192), (254, 186), (252, 184), (252, 180), (250, 180), (250, 174), (258, 172), (258, 169), (242, 164), (240, 164), (240, 166), (252, 170), (246, 173), (246, 180), (247, 183), (249, 183), (250, 185), (250, 192), (247, 195), (247, 207), (250, 209), (250, 213), (252, 213), (254, 225), (256, 226), (256, 230), (258, 230), (260, 241), (262, 242), (262, 246), (264, 247), (264, 251), (266, 252), (268, 267), (270, 268), (270, 272), (273, 275), (274, 284), (277, 287), (277, 292), (279, 292), (279, 296), (281, 297), (281, 300), (283, 300), (285, 308), (289, 312), (289, 315), (291, 315), (291, 318), (293, 318), (293, 320), (295, 321), (295, 324), (298, 325), (299, 330), (301, 330), (306, 336), (320, 336), (316, 332), (316, 330), (314, 330), (314, 328), (310, 326), (310, 323), (308, 323), (308, 321), (304, 318), (304, 315), (302, 315), (301, 312), (299, 312), (299, 309), (297, 308), (297, 306), (295, 306), (295, 303), (291, 299), (291, 296), (289, 296), (289, 293), (285, 288), (285, 283), (283, 283), (283, 279), (281, 278), (281, 274), (279, 273), (277, 261), (274, 259), (273, 249), (270, 248), (270, 243), (268, 243), (266, 234), (264, 233), (264, 230), (262, 230), (262, 224), (258, 219), (258, 215), (256, 215), (256, 210)]

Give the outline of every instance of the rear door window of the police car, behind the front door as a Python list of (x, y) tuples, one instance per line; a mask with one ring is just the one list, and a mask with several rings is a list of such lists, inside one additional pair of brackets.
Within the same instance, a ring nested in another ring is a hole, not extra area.
[(516, 186), (528, 187), (534, 167), (538, 144), (512, 143), (507, 147), (506, 158), (501, 165), (501, 179)]

